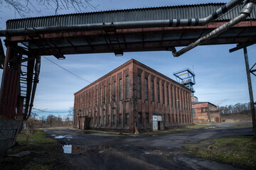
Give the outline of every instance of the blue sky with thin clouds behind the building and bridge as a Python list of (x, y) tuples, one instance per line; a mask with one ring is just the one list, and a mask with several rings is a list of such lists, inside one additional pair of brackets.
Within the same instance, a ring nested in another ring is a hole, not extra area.
[[(144, 8), (154, 6), (176, 6), (184, 4), (205, 4), (213, 0), (92, 0), (97, 6), (87, 8), (83, 12), (107, 11), (124, 8)], [(228, 2), (214, 1), (214, 2)], [(1, 7), (0, 7), (1, 8)], [(29, 16), (54, 15), (53, 9), (41, 7), (40, 12), (28, 13)], [(75, 13), (73, 9), (59, 11), (58, 14)], [(14, 9), (2, 8), (0, 11), (0, 28), (6, 28), (8, 19), (21, 18)], [(3, 38), (1, 38), (3, 40)], [(250, 101), (247, 77), (245, 72), (245, 59), (242, 50), (229, 52), (235, 45), (203, 45), (181, 55), (173, 57), (171, 52), (124, 52), (124, 56), (115, 57), (113, 53), (87, 54), (87, 55), (65, 55), (65, 60), (57, 60), (50, 56), (48, 59), (56, 62), (61, 67), (77, 74), (87, 81), (95, 81), (119, 67), (131, 59), (137, 60), (155, 69), (161, 74), (176, 80), (173, 72), (180, 69), (190, 68), (196, 74), (195, 96), (199, 101), (209, 101), (215, 105), (225, 106), (235, 103), (247, 103)], [(177, 49), (180, 49), (178, 47)], [(250, 66), (255, 64), (256, 45), (247, 47)], [(0, 69), (0, 80), (2, 70)], [(74, 93), (89, 83), (74, 77), (72, 74), (60, 69), (55, 64), (42, 57), (39, 84), (34, 100), (34, 108), (46, 112), (37, 112), (42, 115), (67, 115), (70, 107), (74, 105)], [(252, 84), (255, 84), (252, 77)], [(255, 89), (255, 86), (253, 86)], [(35, 111), (36, 112), (36, 111)]]

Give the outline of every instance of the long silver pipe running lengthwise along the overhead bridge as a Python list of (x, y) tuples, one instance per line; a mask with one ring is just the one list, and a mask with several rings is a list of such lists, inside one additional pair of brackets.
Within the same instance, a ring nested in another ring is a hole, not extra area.
[(50, 26), (38, 28), (18, 28), (12, 30), (0, 30), (0, 37), (9, 35), (26, 35), (26, 33), (53, 33), (55, 31), (78, 31), (78, 30), (103, 30), (107, 26), (114, 26), (117, 29), (126, 28), (156, 28), (156, 27), (178, 27), (178, 26), (204, 26), (210, 21), (226, 13), (234, 6), (242, 3), (244, 0), (231, 0), (227, 4), (218, 8), (215, 12), (206, 18), (190, 19), (170, 19), (170, 20), (152, 20), (152, 21), (124, 21), (112, 23), (90, 23), (75, 26)]

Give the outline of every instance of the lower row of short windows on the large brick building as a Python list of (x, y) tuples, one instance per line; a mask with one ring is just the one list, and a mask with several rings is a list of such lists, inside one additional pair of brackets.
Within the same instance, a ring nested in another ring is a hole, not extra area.
[[(95, 116), (95, 120), (93, 120), (93, 117), (90, 118), (90, 123), (91, 124), (100, 124), (100, 125), (110, 125), (111, 124), (111, 118), (110, 118), (110, 115), (107, 115), (107, 122), (106, 122), (106, 116), (105, 116), (105, 113), (103, 113), (103, 122), (101, 122), (101, 116)], [(142, 124), (143, 123), (143, 118), (142, 118), (142, 113), (139, 112), (138, 113), (138, 123), (139, 124)], [(116, 122), (117, 122), (117, 117), (116, 117), (116, 114), (113, 115), (113, 121), (112, 121), (112, 125), (116, 125)], [(146, 123), (149, 123), (149, 113), (145, 113), (145, 122)], [(119, 125), (122, 125), (122, 114), (119, 114), (119, 119), (118, 119), (118, 124)], [(129, 113), (126, 113), (125, 114), (125, 119), (124, 119), (124, 124), (125, 125), (129, 125)]]

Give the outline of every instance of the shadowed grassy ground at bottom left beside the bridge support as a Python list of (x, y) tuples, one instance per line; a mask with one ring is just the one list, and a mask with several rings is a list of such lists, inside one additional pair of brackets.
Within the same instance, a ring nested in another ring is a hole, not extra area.
[(12, 147), (9, 154), (16, 154), (22, 151), (30, 151), (25, 157), (2, 157), (0, 159), (0, 169), (68, 169), (58, 159), (62, 152), (57, 140), (47, 137), (41, 130), (28, 138), (26, 142), (26, 132), (18, 134), (18, 145)]

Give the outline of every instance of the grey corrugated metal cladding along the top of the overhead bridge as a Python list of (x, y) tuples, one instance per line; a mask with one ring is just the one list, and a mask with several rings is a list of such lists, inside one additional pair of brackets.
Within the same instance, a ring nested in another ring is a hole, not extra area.
[[(45, 26), (71, 26), (88, 23), (111, 23), (120, 21), (149, 21), (182, 18), (205, 18), (223, 4), (199, 4), (186, 6), (163, 6), (154, 8), (133, 8), (93, 13), (73, 13), (60, 16), (14, 19), (6, 22), (6, 29), (33, 28)], [(225, 13), (218, 21), (226, 21), (239, 15), (242, 4)], [(256, 8), (247, 19), (256, 19)]]

